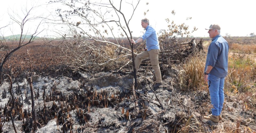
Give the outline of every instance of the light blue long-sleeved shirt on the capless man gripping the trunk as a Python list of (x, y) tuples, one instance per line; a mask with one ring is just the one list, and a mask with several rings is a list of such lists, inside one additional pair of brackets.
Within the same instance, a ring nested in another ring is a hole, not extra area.
[(160, 49), (157, 34), (152, 26), (147, 26), (145, 34), (139, 38), (142, 38), (142, 40), (146, 39), (147, 51), (150, 51), (151, 49)]

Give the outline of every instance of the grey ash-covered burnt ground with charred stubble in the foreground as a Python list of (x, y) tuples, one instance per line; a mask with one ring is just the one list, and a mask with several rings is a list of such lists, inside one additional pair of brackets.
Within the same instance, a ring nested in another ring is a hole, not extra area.
[[(76, 72), (79, 80), (61, 77), (33, 77), (37, 132), (212, 132), (223, 125), (256, 131), (253, 111), (225, 95), (222, 120), (203, 119), (210, 114), (210, 96), (205, 91), (182, 91), (178, 70), (163, 66), (163, 84), (153, 88), (152, 72), (138, 72), (138, 88), (133, 97), (133, 76), (125, 73)], [(1, 111), (10, 109), (9, 82), (0, 87)], [(6, 98), (2, 98), (4, 90)], [(14, 83), (14, 123), (18, 132), (31, 132), (31, 96), (27, 81)], [(138, 102), (139, 111), (135, 102)], [(252, 103), (255, 104), (255, 103)], [(14, 132), (11, 120), (3, 132)], [(1, 116), (1, 120), (4, 116)], [(238, 123), (239, 122), (239, 123)]]

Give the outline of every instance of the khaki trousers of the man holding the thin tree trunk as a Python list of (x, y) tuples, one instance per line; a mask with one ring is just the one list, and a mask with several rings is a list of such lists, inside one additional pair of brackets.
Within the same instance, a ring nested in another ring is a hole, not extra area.
[[(151, 49), (150, 51), (143, 51), (143, 52), (139, 53), (135, 59), (135, 68), (137, 71), (139, 69), (139, 65), (141, 64), (141, 60), (149, 57), (149, 59), (151, 61), (152, 68), (155, 71), (155, 77), (157, 79), (156, 83), (162, 83), (160, 67), (158, 64), (159, 52), (160, 52), (160, 49)], [(133, 69), (132, 69), (132, 71), (133, 71)]]

